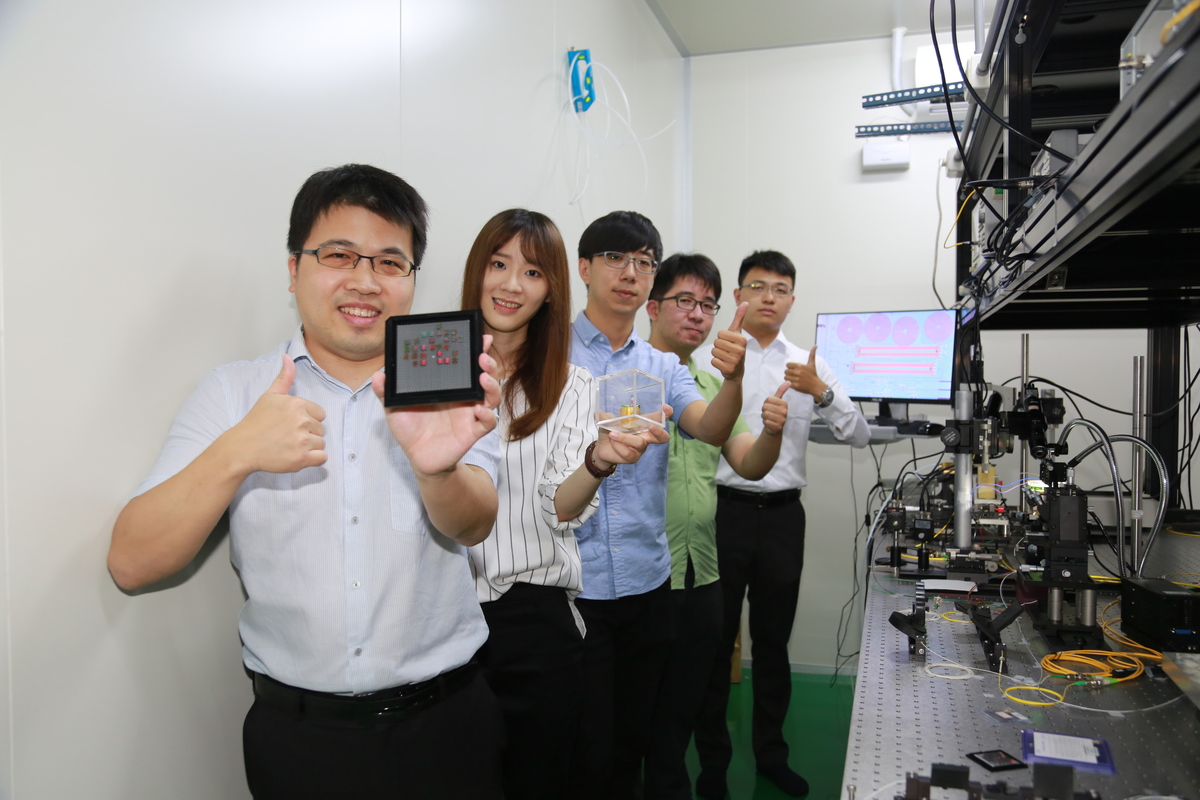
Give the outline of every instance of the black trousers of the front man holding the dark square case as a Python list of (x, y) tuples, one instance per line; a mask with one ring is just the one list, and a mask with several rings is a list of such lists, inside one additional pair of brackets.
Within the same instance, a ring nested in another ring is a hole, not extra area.
[(242, 751), (256, 800), (498, 800), (503, 721), (482, 675), (412, 716), (373, 723), (283, 711), (260, 698)]

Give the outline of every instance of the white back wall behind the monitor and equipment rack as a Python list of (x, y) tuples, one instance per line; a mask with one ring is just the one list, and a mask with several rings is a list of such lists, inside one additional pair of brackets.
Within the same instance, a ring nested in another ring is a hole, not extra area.
[[(906, 41), (910, 77), (914, 49), (925, 42), (928, 36)], [(727, 287), (736, 284), (738, 265), (750, 252), (787, 253), (799, 278), (784, 331), (802, 347), (812, 343), (817, 312), (936, 307), (930, 288), (935, 248), (938, 290), (953, 302), (954, 254), (942, 249), (941, 240), (935, 243), (935, 193), (941, 192), (944, 216), (941, 237), (956, 211), (956, 181), (938, 172), (953, 139), (911, 137), (907, 172), (863, 174), (859, 167), (863, 140), (854, 138), (854, 126), (906, 119), (899, 109), (862, 108), (862, 95), (890, 89), (888, 40), (694, 58), (690, 70), (694, 245), (716, 260)], [(727, 303), (718, 325), (727, 323), (731, 309)], [(985, 331), (983, 342), (989, 380), (1019, 374), (1018, 333)], [(1146, 344), (1142, 331), (1042, 331), (1033, 333), (1031, 350), (1033, 374), (1128, 409), (1132, 357), (1145, 354)], [(950, 416), (948, 407), (913, 410), (935, 421)], [(1129, 429), (1128, 417), (1086, 404), (1084, 413), (1112, 433)], [(1081, 449), (1087, 438), (1076, 432), (1070, 441)], [(917, 445), (918, 453), (940, 450), (935, 441)], [(908, 444), (892, 445), (881, 475), (896, 477), (911, 456)], [(1016, 461), (1015, 455), (1002, 459), (1000, 474), (1014, 479)], [(834, 663), (838, 614), (851, 594), (853, 531), (875, 479), (866, 451), (809, 449), (806, 567), (791, 639), (792, 662), (800, 668)], [(1104, 482), (1103, 459), (1086, 462), (1079, 480)], [(857, 630), (848, 642), (846, 651), (857, 650)]]

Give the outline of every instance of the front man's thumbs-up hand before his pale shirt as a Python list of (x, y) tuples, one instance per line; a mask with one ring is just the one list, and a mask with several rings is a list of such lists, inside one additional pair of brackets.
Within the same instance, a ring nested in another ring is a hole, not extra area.
[(325, 463), (325, 410), (288, 392), (296, 377), (292, 356), (250, 413), (226, 435), (236, 439), (233, 452), (247, 461), (247, 471), (299, 473)]

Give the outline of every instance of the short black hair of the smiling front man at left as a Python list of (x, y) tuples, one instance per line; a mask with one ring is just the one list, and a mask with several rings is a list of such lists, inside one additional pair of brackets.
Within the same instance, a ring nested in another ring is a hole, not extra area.
[(340, 205), (366, 209), (392, 224), (412, 230), (410, 255), (415, 264), (421, 263), (430, 224), (425, 200), (402, 178), (370, 164), (331, 167), (304, 182), (292, 204), (288, 252), (300, 252), (320, 215)]

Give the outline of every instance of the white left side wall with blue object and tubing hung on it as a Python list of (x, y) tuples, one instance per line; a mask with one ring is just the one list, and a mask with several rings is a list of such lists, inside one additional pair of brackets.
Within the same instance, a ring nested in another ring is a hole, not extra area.
[(226, 542), (139, 596), (114, 587), (104, 555), (199, 378), (295, 326), (295, 190), (350, 161), (410, 180), (433, 207), (419, 311), (456, 306), (474, 233), (510, 205), (557, 218), (569, 248), (614, 207), (673, 239), (682, 126), (644, 143), (643, 169), (595, 112), (572, 206), (581, 133), (563, 82), (566, 48), (590, 47), (644, 137), (679, 114), (683, 62), (641, 0), (4, 12), (0, 798), (247, 796)]

